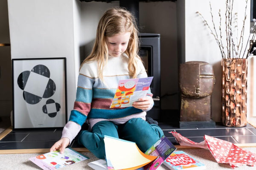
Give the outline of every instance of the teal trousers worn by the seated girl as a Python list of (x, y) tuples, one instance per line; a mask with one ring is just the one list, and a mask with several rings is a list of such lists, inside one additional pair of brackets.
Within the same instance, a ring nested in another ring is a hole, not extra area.
[(141, 118), (134, 118), (120, 125), (101, 121), (96, 123), (91, 131), (81, 130), (78, 141), (97, 158), (105, 159), (104, 135), (135, 142), (140, 150), (145, 152), (163, 136), (163, 130)]

